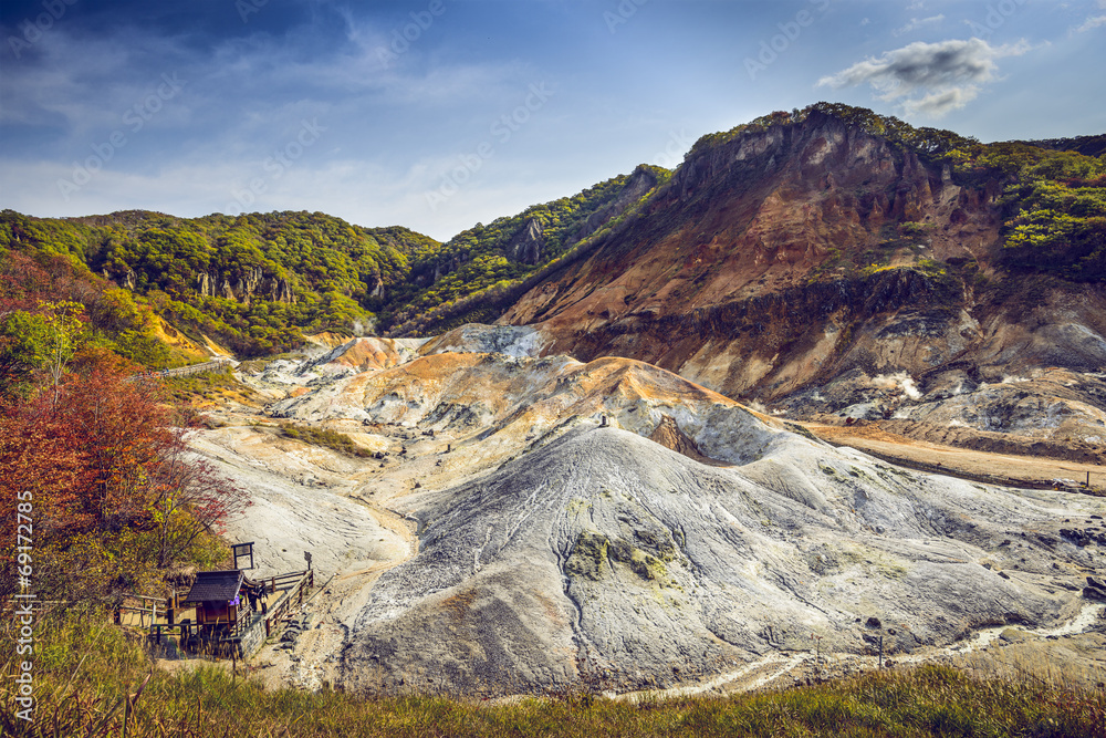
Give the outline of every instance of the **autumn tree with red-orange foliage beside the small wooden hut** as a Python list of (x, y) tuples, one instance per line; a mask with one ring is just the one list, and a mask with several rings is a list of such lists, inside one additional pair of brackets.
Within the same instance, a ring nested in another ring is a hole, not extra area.
[[(156, 591), (175, 563), (213, 563), (215, 534), (244, 495), (192, 458), (159, 381), (103, 349), (56, 385), (0, 407), (0, 505), (34, 500), (35, 586), (65, 599)], [(0, 590), (14, 583), (6, 514)], [(0, 595), (7, 592), (0, 591)]]

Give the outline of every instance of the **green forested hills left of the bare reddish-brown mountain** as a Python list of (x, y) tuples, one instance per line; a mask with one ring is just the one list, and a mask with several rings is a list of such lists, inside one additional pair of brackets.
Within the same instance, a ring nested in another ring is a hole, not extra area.
[(585, 245), (667, 175), (641, 167), (478, 224), (447, 243), (320, 212), (186, 219), (132, 210), (51, 219), (6, 210), (0, 249), (69, 257), (142, 295), (186, 332), (260, 355), (299, 345), (303, 332), (440, 330), (494, 319), (508, 287)]

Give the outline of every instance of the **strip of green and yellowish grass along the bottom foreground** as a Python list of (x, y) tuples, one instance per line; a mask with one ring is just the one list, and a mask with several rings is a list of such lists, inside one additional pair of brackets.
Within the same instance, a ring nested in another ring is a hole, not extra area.
[[(1106, 736), (1103, 690), (975, 679), (948, 667), (868, 674), (786, 692), (614, 703), (588, 695), (511, 705), (268, 692), (217, 668), (170, 676), (102, 617), (35, 634), (33, 723), (15, 717), (6, 656), (3, 736)], [(10, 619), (4, 640), (14, 643)], [(148, 677), (148, 682), (147, 680)], [(145, 686), (144, 685), (145, 682)]]

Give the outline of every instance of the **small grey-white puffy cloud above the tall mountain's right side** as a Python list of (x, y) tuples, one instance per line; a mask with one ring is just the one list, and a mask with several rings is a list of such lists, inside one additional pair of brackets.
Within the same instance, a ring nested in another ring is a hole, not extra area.
[(981, 39), (915, 42), (818, 80), (834, 89), (870, 84), (877, 96), (907, 112), (940, 116), (975, 98), (998, 77), (995, 60), (1029, 51), (1024, 41), (992, 46)]

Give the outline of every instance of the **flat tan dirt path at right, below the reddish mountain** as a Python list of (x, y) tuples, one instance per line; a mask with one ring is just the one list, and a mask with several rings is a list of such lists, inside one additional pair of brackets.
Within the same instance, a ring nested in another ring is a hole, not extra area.
[(1053, 479), (1084, 482), (1106, 493), (1106, 467), (1032, 456), (975, 451), (915, 440), (874, 426), (832, 426), (802, 423), (815, 436), (834, 446), (848, 446), (884, 460), (922, 471), (964, 477), (1012, 487), (1051, 487)]

